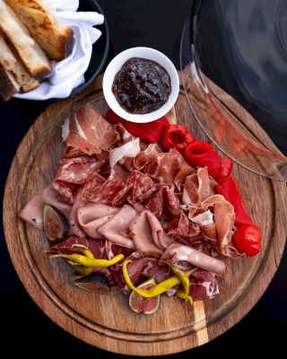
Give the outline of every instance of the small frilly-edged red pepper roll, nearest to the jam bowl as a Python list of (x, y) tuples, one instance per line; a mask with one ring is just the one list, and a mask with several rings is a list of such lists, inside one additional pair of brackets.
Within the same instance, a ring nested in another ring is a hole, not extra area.
[(187, 144), (195, 141), (187, 127), (182, 125), (167, 125), (162, 134), (161, 145), (166, 150), (175, 147), (180, 153), (183, 153)]

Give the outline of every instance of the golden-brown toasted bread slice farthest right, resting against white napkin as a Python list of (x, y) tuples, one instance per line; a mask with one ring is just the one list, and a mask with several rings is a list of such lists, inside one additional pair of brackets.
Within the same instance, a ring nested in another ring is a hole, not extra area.
[(49, 58), (60, 61), (68, 55), (74, 44), (73, 30), (59, 21), (48, 4), (39, 0), (6, 0), (6, 3)]

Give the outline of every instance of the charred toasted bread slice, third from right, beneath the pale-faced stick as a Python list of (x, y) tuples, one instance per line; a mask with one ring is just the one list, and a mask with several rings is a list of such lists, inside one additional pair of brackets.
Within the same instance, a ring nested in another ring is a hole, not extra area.
[(0, 65), (4, 67), (6, 71), (13, 74), (13, 77), (22, 87), (23, 92), (29, 92), (39, 87), (39, 81), (32, 77), (24, 69), (21, 64), (20, 58), (17, 58), (17, 54), (13, 54), (13, 51), (6, 44), (3, 36), (0, 33)]

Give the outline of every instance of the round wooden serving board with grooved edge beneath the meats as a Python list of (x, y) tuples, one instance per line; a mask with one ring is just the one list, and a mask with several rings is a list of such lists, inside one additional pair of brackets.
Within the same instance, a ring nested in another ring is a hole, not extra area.
[[(18, 214), (30, 197), (54, 177), (63, 151), (61, 124), (91, 101), (105, 109), (97, 83), (72, 101), (52, 104), (23, 138), (14, 157), (4, 193), (4, 232), (18, 276), (39, 307), (75, 337), (111, 352), (126, 355), (167, 355), (200, 346), (241, 320), (265, 292), (279, 265), (286, 239), (287, 195), (283, 182), (267, 180), (238, 165), (234, 175), (246, 198), (249, 214), (263, 232), (263, 247), (255, 258), (226, 258), (220, 295), (193, 307), (178, 298), (161, 297), (159, 311), (138, 315), (128, 298), (88, 293), (71, 285), (72, 269), (63, 259), (44, 254), (43, 232), (23, 223)], [(234, 102), (234, 110), (241, 110)], [(171, 118), (187, 125), (197, 138), (204, 134), (179, 95)], [(247, 121), (254, 121), (246, 114)], [(257, 127), (257, 136), (269, 141)], [(271, 144), (272, 145), (272, 144)]]

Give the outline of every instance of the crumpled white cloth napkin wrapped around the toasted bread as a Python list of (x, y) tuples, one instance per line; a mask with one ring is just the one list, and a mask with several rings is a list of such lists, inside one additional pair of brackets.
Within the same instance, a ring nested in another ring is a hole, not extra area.
[(14, 97), (26, 100), (65, 99), (73, 89), (84, 83), (83, 74), (91, 60), (92, 44), (100, 38), (100, 30), (93, 28), (104, 22), (100, 13), (76, 12), (78, 0), (46, 0), (56, 11), (58, 17), (74, 31), (74, 48), (69, 57), (52, 61), (53, 71), (48, 74), (39, 88), (16, 94)]

